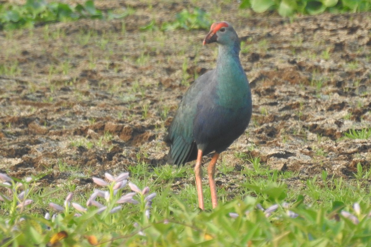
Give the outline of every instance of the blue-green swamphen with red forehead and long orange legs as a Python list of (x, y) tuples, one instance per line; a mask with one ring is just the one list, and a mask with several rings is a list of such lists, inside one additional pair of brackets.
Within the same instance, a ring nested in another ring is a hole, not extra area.
[(252, 97), (240, 62), (240, 41), (226, 21), (213, 23), (203, 45), (219, 46), (216, 68), (198, 77), (184, 93), (164, 141), (170, 146), (168, 164), (194, 167), (198, 207), (204, 210), (202, 157), (212, 154), (207, 168), (211, 203), (217, 207), (216, 163), (221, 152), (246, 130), (252, 115)]

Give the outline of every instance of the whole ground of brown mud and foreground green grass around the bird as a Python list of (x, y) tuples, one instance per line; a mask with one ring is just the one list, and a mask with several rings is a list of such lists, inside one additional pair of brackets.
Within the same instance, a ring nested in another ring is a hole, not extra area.
[[(369, 245), (368, 14), (288, 19), (227, 1), (96, 5), (127, 16), (0, 32), (0, 172), (20, 180), (1, 190), (2, 246)], [(211, 210), (205, 182), (204, 212), (194, 164), (165, 165), (162, 142), (188, 85), (215, 67), (216, 47), (202, 46), (207, 29), (164, 31), (194, 7), (237, 30), (254, 104), (217, 165), (220, 206)], [(115, 194), (105, 174), (124, 172)], [(109, 193), (89, 201), (96, 189)], [(63, 206), (69, 192), (88, 210)]]

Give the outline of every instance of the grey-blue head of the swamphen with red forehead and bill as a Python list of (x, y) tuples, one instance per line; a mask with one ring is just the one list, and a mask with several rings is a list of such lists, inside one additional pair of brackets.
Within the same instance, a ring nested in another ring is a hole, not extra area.
[(238, 36), (233, 27), (226, 21), (213, 23), (210, 27), (210, 32), (204, 39), (204, 45), (210, 43), (229, 44), (238, 41)]

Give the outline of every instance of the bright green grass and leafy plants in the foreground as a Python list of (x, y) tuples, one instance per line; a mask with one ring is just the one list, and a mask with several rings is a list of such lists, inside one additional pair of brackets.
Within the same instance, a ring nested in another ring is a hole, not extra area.
[[(246, 178), (239, 186), (246, 193), (228, 200), (226, 190), (220, 188), (220, 205), (213, 210), (210, 205), (203, 212), (197, 209), (194, 185), (172, 192), (174, 180), (192, 176), (188, 167), (161, 166), (151, 171), (147, 164), (139, 163), (129, 169), (132, 176), (126, 178), (138, 187), (129, 187), (125, 181), (117, 193), (114, 186), (121, 182), (106, 175), (112, 181), (103, 179), (106, 182), (99, 189), (108, 191), (108, 197), (91, 199), (102, 209), (86, 206), (92, 192), (85, 197), (72, 194), (63, 203), (53, 195), (65, 198), (69, 191), (36, 190), (43, 176), (11, 180), (1, 175), (8, 180), (1, 187), (14, 191), (1, 190), (2, 198), (7, 197), (1, 203), (6, 213), (0, 217), (1, 244), (89, 246), (90, 241), (99, 246), (367, 246), (371, 241), (370, 173), (362, 166), (358, 166), (354, 181), (329, 177), (324, 171), (321, 178), (306, 180), (300, 189), (282, 182), (283, 177), (297, 174), (269, 170), (259, 158), (244, 159), (247, 163), (241, 173)], [(252, 168), (246, 167), (249, 163)], [(146, 186), (149, 191), (143, 191)], [(128, 195), (131, 190), (137, 191), (134, 196)], [(23, 197), (19, 196), (22, 191), (26, 191)], [(204, 192), (209, 202), (209, 190)], [(154, 196), (152, 203), (146, 200), (150, 194)], [(125, 195), (135, 201), (116, 203)], [(22, 202), (30, 204), (17, 206)], [(59, 204), (61, 211), (49, 202)], [(47, 212), (46, 218), (38, 213), (40, 208)]]

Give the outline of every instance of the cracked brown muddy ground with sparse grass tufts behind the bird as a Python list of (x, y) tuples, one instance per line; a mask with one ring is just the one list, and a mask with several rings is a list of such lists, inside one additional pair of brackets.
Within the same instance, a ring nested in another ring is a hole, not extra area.
[[(70, 181), (83, 189), (92, 176), (127, 171), (138, 160), (166, 163), (171, 117), (194, 74), (215, 67), (217, 46), (202, 46), (207, 30), (139, 29), (172, 22), (193, 2), (96, 4), (130, 14), (0, 31), (0, 172), (48, 173), (43, 186)], [(253, 95), (246, 134), (222, 154), (234, 171), (217, 176), (220, 186), (251, 167), (236, 153), (294, 171), (289, 186), (323, 170), (350, 180), (357, 163), (370, 169), (371, 138), (342, 138), (371, 123), (370, 13), (288, 19), (239, 10), (237, 1), (201, 4), (244, 42)]]

